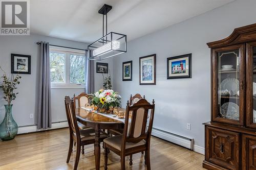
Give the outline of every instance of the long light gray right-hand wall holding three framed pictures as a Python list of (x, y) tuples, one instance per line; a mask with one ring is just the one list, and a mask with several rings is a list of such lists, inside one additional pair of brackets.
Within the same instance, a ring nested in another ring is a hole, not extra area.
[[(210, 120), (210, 49), (206, 43), (223, 39), (234, 28), (256, 22), (256, 1), (237, 0), (156, 33), (130, 41), (127, 53), (114, 60), (115, 90), (125, 105), (130, 94), (155, 99), (154, 127), (193, 137), (204, 147), (204, 127)], [(156, 85), (139, 85), (139, 57), (155, 54)], [(192, 53), (191, 79), (166, 79), (166, 58)], [(133, 60), (133, 81), (122, 81), (122, 62)], [(191, 124), (191, 131), (186, 124)]]

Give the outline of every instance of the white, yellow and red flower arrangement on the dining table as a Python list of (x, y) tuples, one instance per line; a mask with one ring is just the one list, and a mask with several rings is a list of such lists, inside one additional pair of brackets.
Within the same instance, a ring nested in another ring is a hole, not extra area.
[(121, 96), (113, 90), (100, 89), (92, 94), (91, 98), (91, 105), (105, 110), (109, 110), (110, 107), (120, 107), (121, 105)]

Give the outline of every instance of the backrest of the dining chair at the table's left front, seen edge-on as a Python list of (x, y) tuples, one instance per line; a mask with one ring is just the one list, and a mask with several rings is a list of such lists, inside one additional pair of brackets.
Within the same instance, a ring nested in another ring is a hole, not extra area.
[(74, 105), (73, 99), (71, 100), (69, 96), (66, 96), (65, 108), (66, 108), (66, 114), (68, 118), (70, 133), (76, 135), (77, 137), (80, 137), (79, 128), (76, 120), (76, 114), (75, 114), (73, 105)]

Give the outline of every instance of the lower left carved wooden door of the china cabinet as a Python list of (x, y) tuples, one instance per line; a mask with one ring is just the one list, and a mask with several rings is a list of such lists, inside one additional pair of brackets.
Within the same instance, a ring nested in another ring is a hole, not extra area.
[(239, 169), (240, 134), (206, 127), (206, 160), (227, 169)]

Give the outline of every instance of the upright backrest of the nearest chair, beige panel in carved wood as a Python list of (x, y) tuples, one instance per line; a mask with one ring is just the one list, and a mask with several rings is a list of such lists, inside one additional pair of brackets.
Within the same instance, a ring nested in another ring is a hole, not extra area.
[[(148, 124), (148, 129), (146, 131), (148, 110), (151, 110), (151, 113), (150, 113), (150, 121)], [(132, 118), (131, 118), (131, 124), (129, 126), (130, 111), (132, 111)], [(123, 130), (123, 140), (122, 140), (123, 148), (125, 148), (126, 142), (138, 143), (141, 140), (146, 140), (147, 143), (150, 142), (154, 112), (155, 112), (154, 99), (153, 99), (153, 104), (148, 103), (145, 99), (140, 99), (137, 103), (133, 104), (132, 106), (130, 106), (129, 101), (127, 101), (125, 123), (124, 123), (124, 130)]]

